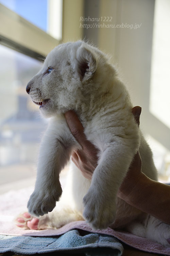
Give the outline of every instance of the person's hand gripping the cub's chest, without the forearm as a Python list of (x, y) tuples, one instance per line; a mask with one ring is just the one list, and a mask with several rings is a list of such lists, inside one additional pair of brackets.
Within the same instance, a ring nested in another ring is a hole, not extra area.
[[(136, 107), (132, 108), (132, 113), (134, 115), (136, 123), (139, 126), (141, 107), (136, 106)], [(80, 169), (83, 176), (87, 179), (91, 179), (92, 174), (98, 164), (98, 152), (99, 151), (89, 140), (87, 140), (87, 138), (84, 134), (84, 128), (83, 128), (81, 122), (79, 121), (77, 115), (73, 111), (69, 110), (68, 112), (66, 112), (65, 118), (66, 118), (67, 124), (70, 128), (72, 135), (82, 146), (81, 150), (77, 150), (77, 151), (73, 152), (71, 159), (74, 162), (74, 164)], [(137, 172), (137, 170), (138, 170), (138, 172)], [(138, 152), (132, 161), (132, 164), (130, 166), (128, 174), (126, 175), (127, 181), (130, 179), (132, 172), (135, 173), (135, 175), (136, 175), (137, 173), (139, 173), (139, 170), (141, 171), (141, 158), (140, 158), (139, 152)], [(126, 177), (125, 177), (125, 179), (126, 179)], [(124, 181), (123, 181), (123, 183), (124, 183)]]

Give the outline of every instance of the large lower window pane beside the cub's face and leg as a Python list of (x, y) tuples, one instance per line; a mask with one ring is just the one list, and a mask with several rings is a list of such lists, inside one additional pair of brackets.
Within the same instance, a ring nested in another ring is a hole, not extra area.
[(21, 188), (24, 180), (27, 185), (33, 183), (38, 145), (46, 123), (26, 93), (26, 85), (41, 68), (41, 62), (2, 45), (0, 56), (0, 183), (4, 192), (8, 190), (6, 183), (11, 189), (16, 187), (16, 181)]

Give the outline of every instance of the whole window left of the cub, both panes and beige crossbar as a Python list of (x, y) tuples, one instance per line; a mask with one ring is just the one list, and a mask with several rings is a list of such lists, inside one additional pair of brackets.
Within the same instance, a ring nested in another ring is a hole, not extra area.
[[(15, 12), (0, 4), (0, 22), (3, 24), (0, 27), (0, 101), (3, 107), (0, 112), (0, 193), (35, 183), (39, 142), (47, 121), (40, 117), (38, 106), (28, 97), (26, 85), (41, 68), (43, 56), (58, 44), (46, 32), (48, 15), (45, 15), (44, 23), (40, 22), (43, 26), (40, 29), (36, 15), (26, 10), (28, 3), (30, 6), (34, 4), (37, 10), (35, 4), (39, 1), (2, 2)], [(52, 0), (41, 2), (44, 4), (37, 15), (44, 15), (46, 5), (53, 3)]]

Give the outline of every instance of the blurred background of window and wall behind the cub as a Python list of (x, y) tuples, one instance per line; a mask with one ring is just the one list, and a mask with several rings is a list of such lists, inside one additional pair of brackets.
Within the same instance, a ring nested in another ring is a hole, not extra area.
[(26, 93), (59, 43), (112, 56), (142, 107), (159, 180), (170, 183), (170, 0), (0, 0), (0, 193), (32, 186), (47, 121)]

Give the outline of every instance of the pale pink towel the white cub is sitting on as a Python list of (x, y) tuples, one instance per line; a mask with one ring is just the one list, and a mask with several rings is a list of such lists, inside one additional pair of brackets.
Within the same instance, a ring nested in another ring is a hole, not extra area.
[(0, 234), (4, 235), (31, 235), (31, 236), (52, 236), (60, 235), (71, 229), (82, 229), (93, 233), (102, 233), (113, 235), (120, 241), (145, 252), (170, 255), (170, 247), (164, 247), (156, 242), (146, 238), (137, 237), (128, 232), (116, 231), (111, 228), (104, 230), (92, 230), (85, 221), (74, 221), (60, 229), (52, 230), (22, 230), (17, 228), (14, 223), (14, 217), (27, 211), (26, 205), (33, 188), (11, 190), (0, 196)]

